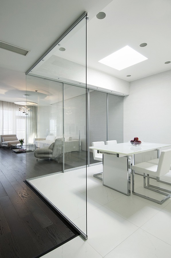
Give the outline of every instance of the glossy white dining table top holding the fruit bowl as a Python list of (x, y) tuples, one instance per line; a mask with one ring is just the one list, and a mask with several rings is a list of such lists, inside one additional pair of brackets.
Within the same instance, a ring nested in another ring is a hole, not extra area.
[(89, 147), (89, 149), (99, 150), (105, 153), (111, 153), (111, 154), (118, 153), (124, 156), (129, 156), (136, 153), (160, 149), (162, 147), (167, 147), (167, 146), (171, 146), (171, 144), (142, 142), (141, 145), (133, 146), (130, 142), (124, 142), (124, 143), (117, 143), (117, 144), (111, 144), (111, 145)]

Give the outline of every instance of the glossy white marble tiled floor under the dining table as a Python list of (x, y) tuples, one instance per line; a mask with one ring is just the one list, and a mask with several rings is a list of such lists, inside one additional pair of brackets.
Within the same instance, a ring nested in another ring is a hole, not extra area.
[[(81, 236), (77, 236), (43, 257), (170, 258), (171, 198), (160, 205), (132, 194), (126, 196), (103, 186), (102, 181), (93, 177), (93, 174), (100, 170), (102, 171), (102, 165), (96, 165), (89, 167), (87, 173), (88, 239), (85, 241)], [(79, 170), (75, 172), (79, 175)], [(65, 178), (62, 178), (62, 187), (66, 191), (63, 198), (68, 196), (68, 200), (71, 200), (71, 195), (76, 193), (74, 191), (85, 195), (84, 185), (72, 181), (66, 174)], [(54, 182), (54, 179), (51, 179), (51, 182)], [(46, 178), (46, 183), (47, 180), (50, 179)], [(61, 181), (61, 179), (59, 180)], [(171, 186), (157, 183), (154, 179), (151, 180), (154, 184), (171, 189)], [(65, 183), (72, 189), (64, 187)], [(37, 181), (38, 184), (41, 185)], [(143, 177), (140, 175), (135, 175), (135, 189), (137, 192), (145, 194), (148, 192), (155, 198), (163, 198), (158, 193), (144, 189)], [(55, 194), (54, 190), (52, 192)], [(80, 228), (84, 228), (85, 224), (85, 214), (83, 213), (80, 211), (76, 218), (76, 214), (72, 212), (72, 219)]]

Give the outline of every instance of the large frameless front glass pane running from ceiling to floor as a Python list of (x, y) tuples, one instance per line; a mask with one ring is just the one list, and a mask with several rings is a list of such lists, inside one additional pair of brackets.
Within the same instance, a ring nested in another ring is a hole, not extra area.
[[(38, 90), (34, 92), (37, 94), (34, 102), (38, 103), (36, 130), (39, 139), (32, 157), (30, 158), (29, 153), (27, 155), (27, 181), (86, 238), (85, 16), (29, 72), (27, 76), (29, 99), (32, 95), (29, 91), (32, 93), (35, 90)], [(33, 138), (32, 130), (28, 130), (28, 135)], [(53, 145), (55, 138), (62, 138), (63, 141)], [(51, 147), (50, 152), (56, 146), (56, 152), (60, 153), (57, 159), (51, 157), (47, 159), (49, 153), (45, 152), (49, 150), (44, 144)], [(38, 155), (35, 156), (35, 153), (41, 155), (43, 153), (44, 157), (36, 161)], [(34, 159), (34, 162), (31, 163), (31, 159)], [(60, 173), (64, 172), (64, 169), (66, 172)]]

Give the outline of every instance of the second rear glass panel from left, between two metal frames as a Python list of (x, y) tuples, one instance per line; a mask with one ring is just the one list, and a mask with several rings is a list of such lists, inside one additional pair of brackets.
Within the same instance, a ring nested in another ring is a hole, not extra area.
[(65, 84), (64, 99), (64, 169), (66, 171), (86, 165), (86, 90)]

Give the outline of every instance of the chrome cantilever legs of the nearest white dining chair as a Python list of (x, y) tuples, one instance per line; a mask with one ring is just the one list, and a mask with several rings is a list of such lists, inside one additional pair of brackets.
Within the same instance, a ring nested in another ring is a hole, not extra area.
[(156, 189), (154, 189), (154, 188), (152, 188), (152, 187), (146, 186), (146, 174), (145, 174), (145, 173), (144, 173), (144, 188), (147, 188), (147, 189), (152, 190), (152, 191), (154, 191), (154, 192), (163, 194), (163, 195), (165, 195), (166, 197), (165, 197), (162, 201), (159, 201), (159, 200), (153, 199), (153, 198), (151, 198), (151, 197), (149, 197), (149, 196), (145, 196), (145, 195), (143, 195), (143, 194), (136, 193), (136, 192), (134, 191), (134, 170), (132, 170), (132, 193), (133, 193), (133, 194), (135, 194), (135, 195), (137, 195), (137, 196), (140, 196), (140, 197), (142, 197), (142, 198), (144, 198), (144, 199), (150, 200), (150, 201), (152, 201), (152, 202), (156, 202), (156, 203), (158, 203), (158, 204), (162, 204), (162, 203), (164, 203), (167, 199), (170, 198), (170, 194), (164, 193), (164, 192), (158, 191), (158, 190), (156, 190)]

